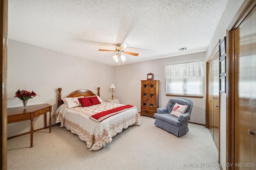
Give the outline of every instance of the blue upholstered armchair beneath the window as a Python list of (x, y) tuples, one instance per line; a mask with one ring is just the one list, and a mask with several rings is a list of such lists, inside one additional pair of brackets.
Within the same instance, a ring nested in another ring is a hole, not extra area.
[[(186, 112), (179, 117), (170, 115), (175, 103), (188, 106)], [(171, 98), (164, 108), (156, 109), (154, 113), (156, 117), (155, 125), (178, 137), (185, 135), (188, 132), (188, 121), (193, 107), (193, 102), (187, 98)]]

